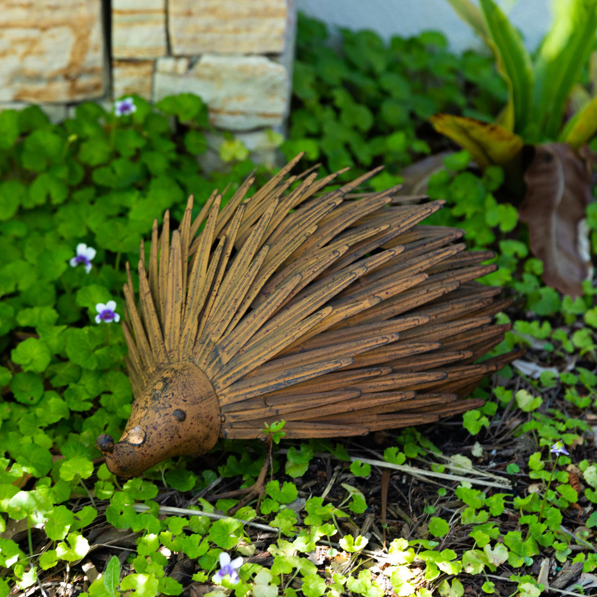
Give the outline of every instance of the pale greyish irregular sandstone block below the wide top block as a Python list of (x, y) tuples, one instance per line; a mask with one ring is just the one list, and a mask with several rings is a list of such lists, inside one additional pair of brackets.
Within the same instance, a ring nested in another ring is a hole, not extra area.
[(182, 75), (162, 72), (160, 63), (154, 101), (195, 93), (207, 103), (211, 123), (229, 130), (276, 127), (284, 120), (290, 96), (288, 72), (264, 56), (205, 54)]

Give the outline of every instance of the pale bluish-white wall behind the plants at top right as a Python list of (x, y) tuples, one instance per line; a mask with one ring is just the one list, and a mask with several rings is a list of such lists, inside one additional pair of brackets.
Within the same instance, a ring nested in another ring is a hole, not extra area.
[[(550, 0), (497, 2), (521, 30), (527, 47), (534, 50), (552, 19)], [(447, 0), (297, 0), (297, 8), (331, 26), (373, 29), (386, 40), (435, 29), (444, 33), (453, 51), (482, 45)]]

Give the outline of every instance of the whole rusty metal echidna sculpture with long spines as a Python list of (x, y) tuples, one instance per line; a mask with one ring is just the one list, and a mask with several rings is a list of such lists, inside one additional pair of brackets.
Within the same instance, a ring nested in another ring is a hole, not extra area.
[(442, 202), (351, 198), (376, 171), (322, 192), (336, 174), (287, 177), (297, 160), (222, 210), (213, 193), (193, 222), (189, 199), (172, 233), (166, 212), (159, 239), (156, 220), (139, 306), (127, 264), (135, 400), (120, 441), (97, 439), (113, 473), (257, 438), (264, 421), (285, 420), (287, 438), (435, 421), (482, 404), (461, 398), (514, 358), (474, 364), (503, 338), (491, 319), (506, 303), (475, 282), (491, 252), (418, 224)]

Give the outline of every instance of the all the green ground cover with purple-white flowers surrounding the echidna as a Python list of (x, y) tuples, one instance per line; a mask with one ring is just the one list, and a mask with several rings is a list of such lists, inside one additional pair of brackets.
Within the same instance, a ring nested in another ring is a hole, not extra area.
[[(301, 19), (299, 33), (284, 149), (328, 170), (386, 164), (372, 184), (387, 186), (445, 149), (425, 124), (431, 113), (489, 117), (503, 101), (491, 61), (452, 56), (436, 33), (387, 47), (343, 32), (328, 53), (321, 24)], [(418, 68), (406, 70), (407, 53)], [(355, 73), (349, 98), (335, 72)], [(379, 87), (386, 74), (402, 96)], [(543, 284), (516, 210), (496, 199), (503, 172), (470, 170), (466, 152), (430, 178), (429, 195), (447, 205), (429, 223), (463, 227), (470, 247), (497, 251), (486, 281), (513, 305), (498, 316), (512, 329), (496, 350), (528, 349), (476, 391), (484, 407), (361, 442), (293, 443), (273, 424), (266, 494), (236, 512), (236, 500), (211, 497), (253, 483), (260, 442), (221, 441), (139, 478), (107, 470), (96, 436), (119, 436), (132, 398), (116, 323), (124, 263), (139, 259), (154, 216), (171, 208), (180, 218), (188, 193), (200, 205), (230, 183), (230, 196), (253, 168), (198, 174), (208, 128), (198, 98), (133, 103), (119, 117), (82, 104), (61, 125), (36, 107), (0, 113), (0, 597), (48, 592), (56, 578), (94, 597), (189, 586), (211, 597), (536, 597), (547, 578), (580, 590), (581, 572), (597, 568), (595, 291), (586, 282), (573, 300)], [(367, 113), (374, 122), (359, 128)], [(587, 224), (594, 251), (592, 206)]]

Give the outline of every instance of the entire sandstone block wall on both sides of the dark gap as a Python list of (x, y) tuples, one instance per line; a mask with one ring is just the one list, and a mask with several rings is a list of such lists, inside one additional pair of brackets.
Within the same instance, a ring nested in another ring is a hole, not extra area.
[(0, 109), (188, 92), (218, 128), (281, 130), (295, 24), (294, 0), (0, 0)]

